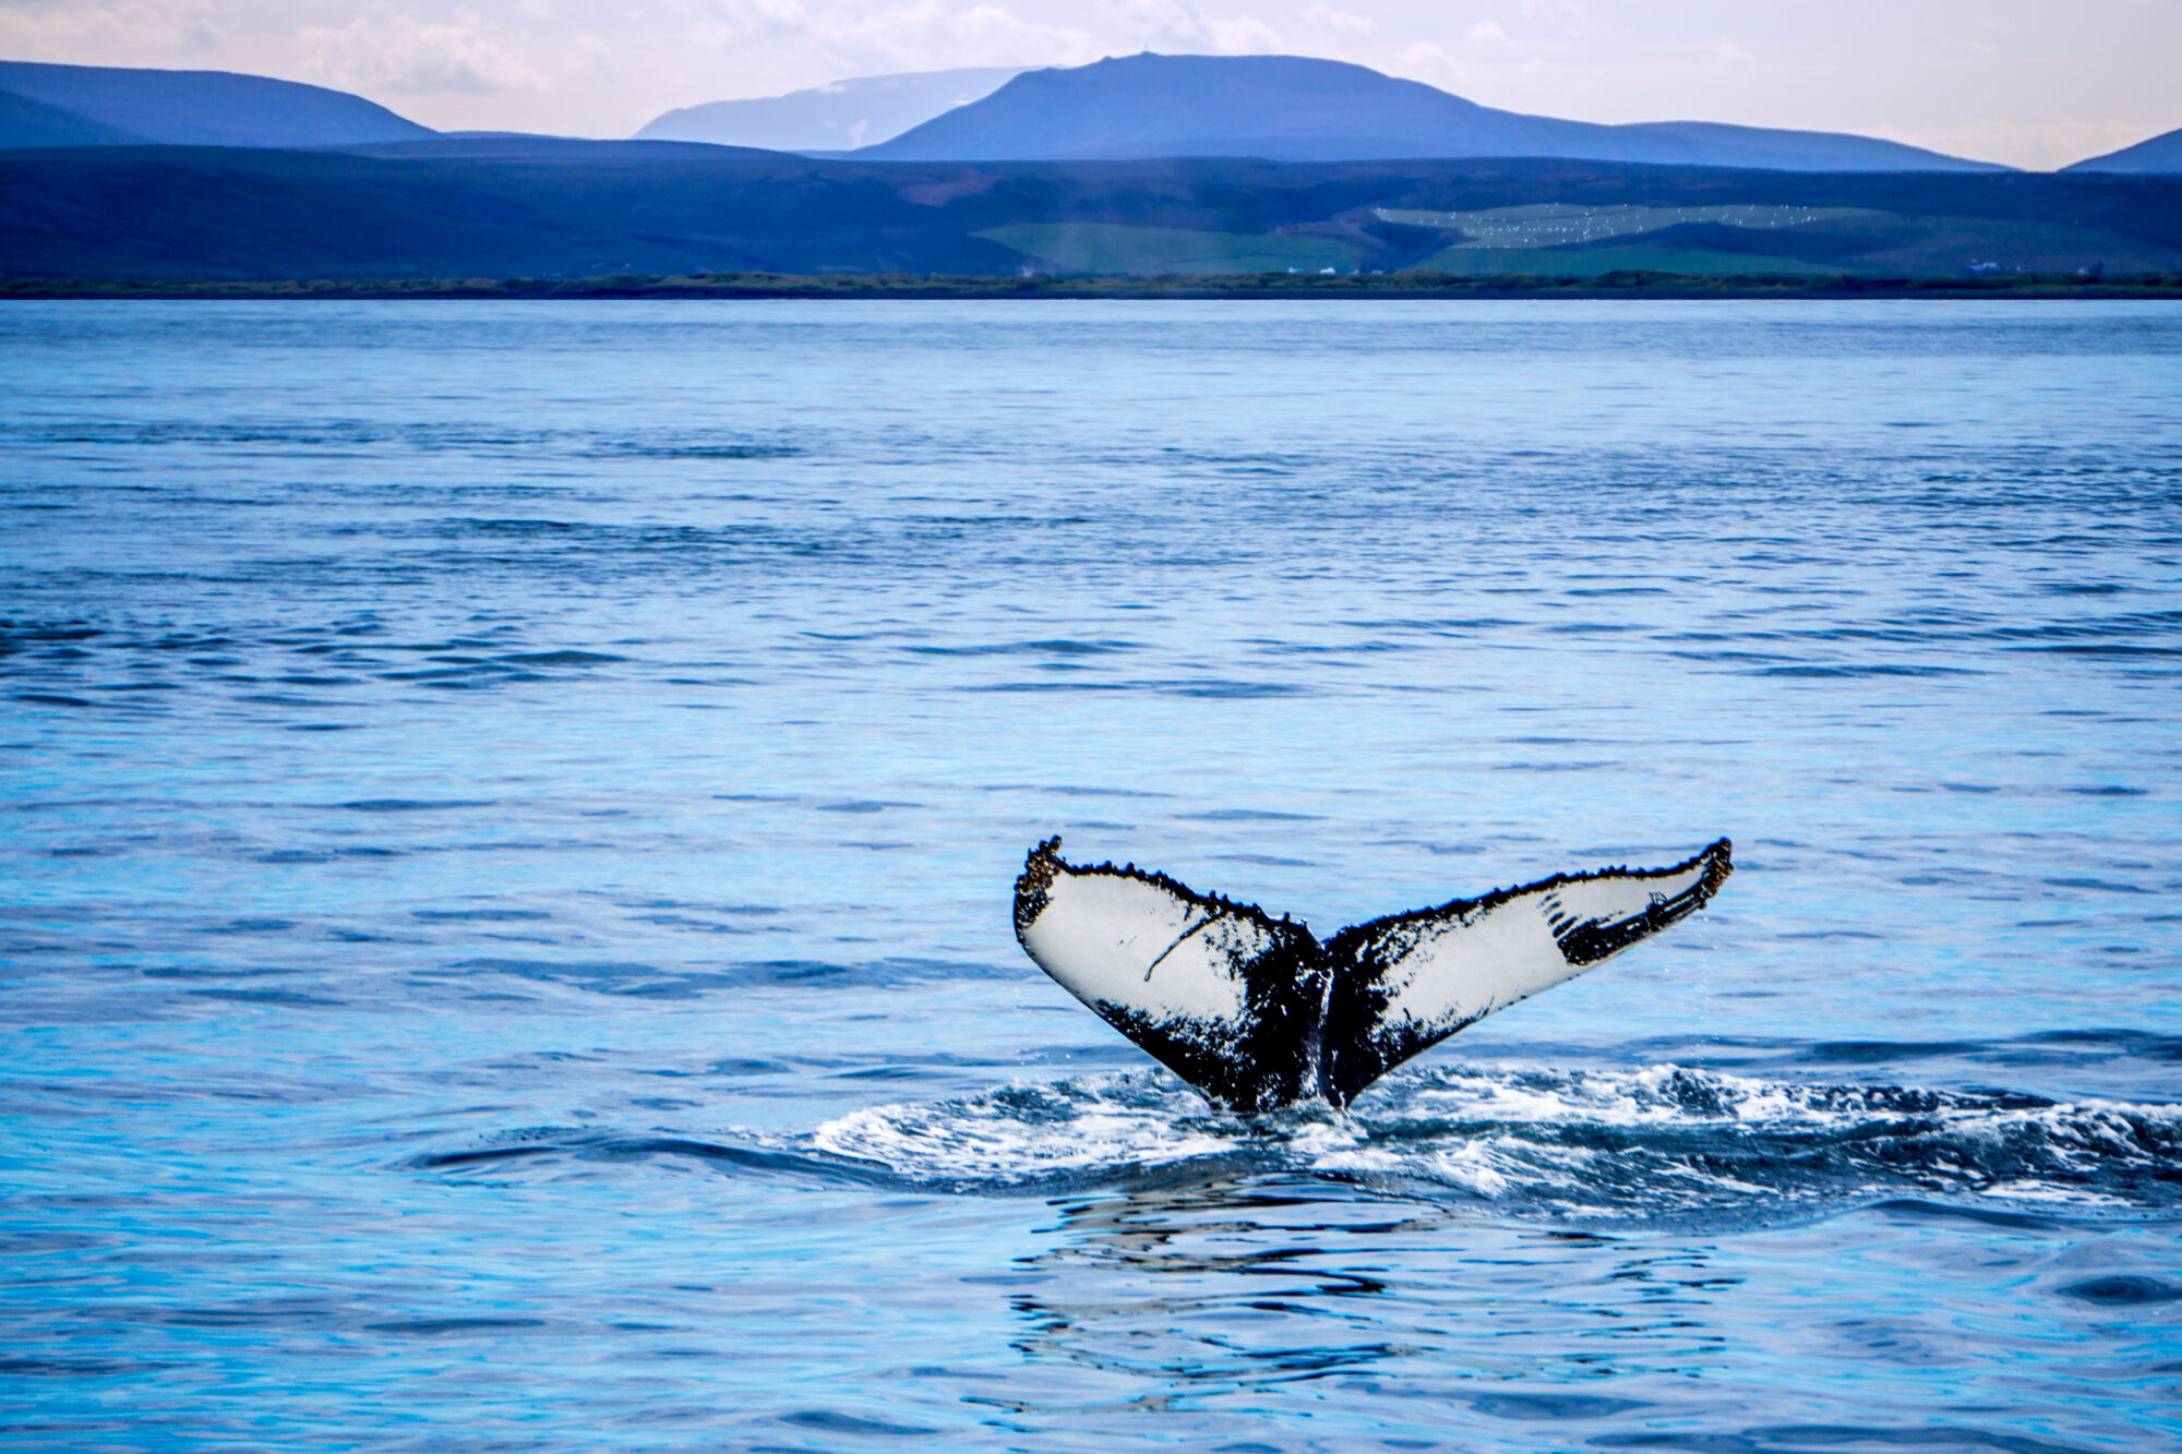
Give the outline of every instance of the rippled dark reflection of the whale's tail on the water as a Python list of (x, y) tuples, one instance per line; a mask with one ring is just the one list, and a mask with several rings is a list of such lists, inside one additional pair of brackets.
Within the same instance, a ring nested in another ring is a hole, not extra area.
[(1015, 1299), (1026, 1351), (1191, 1389), (1407, 1378), (1418, 1362), (1488, 1382), (1695, 1373), (1726, 1351), (1711, 1292), (1739, 1282), (1704, 1249), (1501, 1238), (1429, 1203), (1311, 1183), (1191, 1179), (1056, 1209), (1063, 1244), (1023, 1262), (1045, 1286)]

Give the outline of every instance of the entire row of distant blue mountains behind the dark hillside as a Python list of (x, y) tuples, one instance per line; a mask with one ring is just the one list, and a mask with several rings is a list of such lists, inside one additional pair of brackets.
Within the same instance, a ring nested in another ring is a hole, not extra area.
[[(471, 133), (454, 133), (476, 155)], [(1311, 57), (1108, 57), (1078, 68), (864, 76), (668, 111), (639, 142), (868, 162), (1571, 157), (1765, 170), (2005, 170), (1877, 138), (1719, 122), (1597, 124), (1499, 111)], [(382, 146), (443, 133), (319, 85), (216, 70), (0, 61), (0, 151), (39, 146)], [(550, 146), (552, 138), (530, 138)], [(596, 155), (596, 153), (587, 153)], [(644, 153), (626, 153), (631, 157)], [(2071, 170), (2178, 172), (2182, 133)]]

